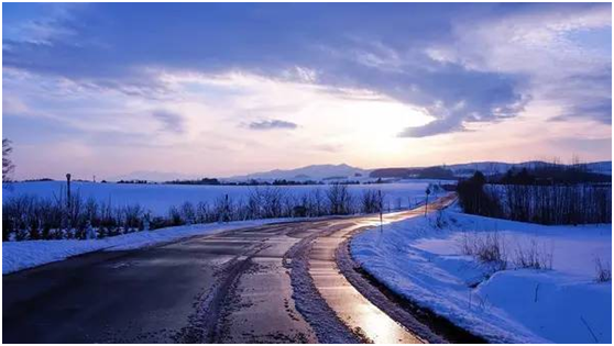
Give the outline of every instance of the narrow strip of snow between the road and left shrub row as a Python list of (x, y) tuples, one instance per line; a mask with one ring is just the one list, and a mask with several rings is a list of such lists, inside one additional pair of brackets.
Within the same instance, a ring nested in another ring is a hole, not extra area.
[[(296, 219), (294, 220), (296, 221)], [(128, 250), (173, 242), (194, 235), (216, 234), (223, 231), (254, 227), (286, 221), (289, 221), (289, 219), (186, 225), (135, 232), (91, 241), (2, 242), (2, 275), (97, 250)]]

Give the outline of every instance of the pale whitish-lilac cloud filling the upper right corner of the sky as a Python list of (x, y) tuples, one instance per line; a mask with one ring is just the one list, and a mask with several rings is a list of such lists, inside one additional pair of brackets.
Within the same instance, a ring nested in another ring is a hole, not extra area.
[(556, 120), (611, 123), (610, 5), (540, 4), (493, 14), (453, 22), (452, 38), (427, 53), (442, 64), (516, 76), (516, 92), (557, 105)]

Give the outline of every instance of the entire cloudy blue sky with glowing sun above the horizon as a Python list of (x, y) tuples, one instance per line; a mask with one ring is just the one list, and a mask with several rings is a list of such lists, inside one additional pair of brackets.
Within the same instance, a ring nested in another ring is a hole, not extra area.
[(610, 3), (3, 3), (14, 177), (612, 158)]

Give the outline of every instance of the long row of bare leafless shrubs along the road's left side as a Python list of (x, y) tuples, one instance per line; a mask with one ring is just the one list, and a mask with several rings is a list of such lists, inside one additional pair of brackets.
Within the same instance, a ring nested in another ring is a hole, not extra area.
[[(15, 196), (2, 203), (2, 241), (86, 239), (186, 224), (273, 217), (306, 217), (376, 213), (384, 208), (379, 190), (350, 191), (333, 183), (303, 194), (278, 187), (254, 187), (245, 198), (220, 196), (212, 202), (173, 205), (153, 215), (139, 204), (113, 205), (85, 199), (78, 191), (52, 198)], [(390, 205), (387, 205), (390, 209)]]

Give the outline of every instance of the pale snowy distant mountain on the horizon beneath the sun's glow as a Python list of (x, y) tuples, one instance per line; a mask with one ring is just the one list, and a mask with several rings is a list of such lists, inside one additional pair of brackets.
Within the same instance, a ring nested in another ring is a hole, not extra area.
[(311, 165), (296, 169), (274, 169), (270, 171), (254, 172), (245, 176), (234, 176), (223, 180), (242, 181), (242, 180), (347, 180), (360, 179), (368, 177), (369, 170), (352, 167), (346, 164), (341, 165)]

